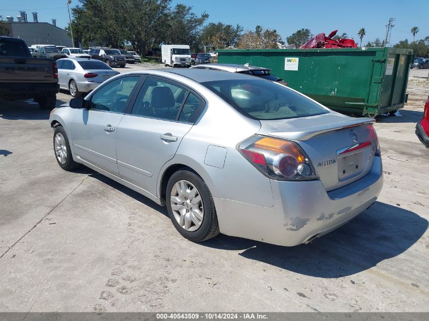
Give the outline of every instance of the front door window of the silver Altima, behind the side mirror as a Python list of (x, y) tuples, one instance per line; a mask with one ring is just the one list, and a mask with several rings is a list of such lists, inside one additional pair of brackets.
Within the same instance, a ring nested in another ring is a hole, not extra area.
[(92, 95), (89, 109), (124, 113), (129, 96), (139, 80), (139, 76), (131, 76), (107, 83)]

